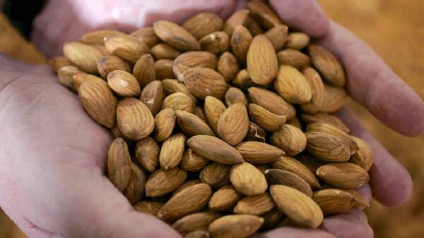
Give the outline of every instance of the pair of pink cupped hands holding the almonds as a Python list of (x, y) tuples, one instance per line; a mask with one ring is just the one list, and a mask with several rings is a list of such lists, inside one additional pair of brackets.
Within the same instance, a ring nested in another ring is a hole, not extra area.
[[(370, 46), (331, 22), (314, 0), (270, 0), (289, 27), (306, 32), (343, 63), (347, 90), (392, 130), (424, 132), (424, 102)], [(47, 56), (66, 40), (101, 27), (130, 32), (155, 20), (181, 23), (211, 11), (228, 17), (245, 1), (47, 1), (34, 23), (33, 42)], [(78, 96), (62, 87), (51, 68), (0, 54), (0, 206), (29, 237), (179, 237), (151, 215), (134, 211), (105, 177), (110, 133), (94, 123)], [(374, 152), (370, 183), (359, 190), (385, 206), (411, 194), (406, 169), (343, 108), (340, 118)], [(373, 237), (363, 211), (324, 219), (319, 230), (282, 227), (257, 237)]]

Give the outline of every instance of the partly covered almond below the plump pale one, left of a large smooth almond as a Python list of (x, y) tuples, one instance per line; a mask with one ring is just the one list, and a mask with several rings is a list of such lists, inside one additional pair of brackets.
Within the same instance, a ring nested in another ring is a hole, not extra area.
[(245, 196), (234, 208), (236, 214), (262, 215), (272, 210), (276, 205), (269, 193), (255, 196)]

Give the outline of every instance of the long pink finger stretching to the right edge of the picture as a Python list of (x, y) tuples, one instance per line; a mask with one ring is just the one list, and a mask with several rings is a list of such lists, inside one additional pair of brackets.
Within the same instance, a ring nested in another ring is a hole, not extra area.
[(382, 61), (374, 50), (346, 28), (330, 24), (319, 44), (344, 65), (352, 98), (396, 132), (417, 136), (424, 132), (424, 101)]

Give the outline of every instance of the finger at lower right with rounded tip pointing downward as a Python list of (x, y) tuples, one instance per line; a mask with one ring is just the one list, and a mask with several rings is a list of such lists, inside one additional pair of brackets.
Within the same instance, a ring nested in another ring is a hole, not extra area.
[(406, 168), (365, 130), (351, 111), (342, 108), (337, 115), (351, 128), (353, 135), (371, 146), (374, 154), (374, 164), (369, 171), (372, 196), (384, 206), (399, 206), (404, 203), (412, 191), (411, 176)]

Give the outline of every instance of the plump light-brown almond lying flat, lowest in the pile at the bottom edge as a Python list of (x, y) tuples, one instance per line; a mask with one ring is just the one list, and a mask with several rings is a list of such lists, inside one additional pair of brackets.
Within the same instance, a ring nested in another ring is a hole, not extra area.
[(243, 238), (257, 232), (263, 223), (264, 218), (256, 215), (225, 215), (213, 221), (208, 232), (217, 238)]

